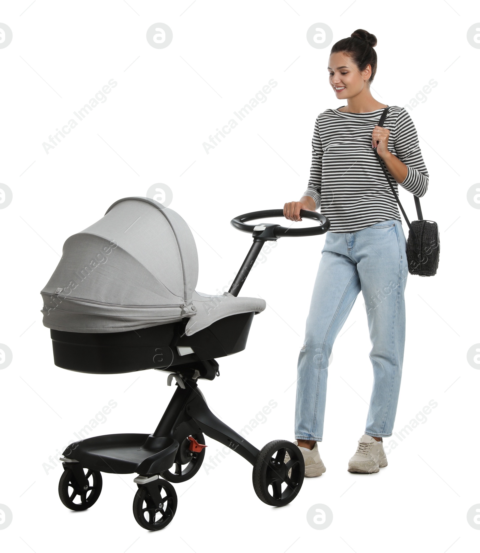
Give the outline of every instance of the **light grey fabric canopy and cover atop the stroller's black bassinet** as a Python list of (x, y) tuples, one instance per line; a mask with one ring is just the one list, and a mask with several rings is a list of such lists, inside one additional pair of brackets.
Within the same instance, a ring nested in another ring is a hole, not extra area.
[(197, 293), (197, 280), (197, 247), (182, 217), (154, 200), (125, 198), (65, 242), (41, 291), (43, 323), (106, 333), (189, 317), (192, 335), (223, 317), (265, 309), (260, 298)]

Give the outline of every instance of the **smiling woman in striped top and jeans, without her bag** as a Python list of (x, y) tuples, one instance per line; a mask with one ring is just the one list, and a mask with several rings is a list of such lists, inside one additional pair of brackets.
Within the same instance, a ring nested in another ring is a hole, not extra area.
[(294, 442), (305, 460), (305, 476), (325, 472), (318, 444), (323, 435), (326, 380), (335, 338), (355, 299), (365, 300), (372, 350), (373, 390), (365, 433), (358, 440), (349, 472), (372, 473), (387, 466), (383, 437), (392, 436), (402, 376), (408, 265), (405, 236), (395, 198), (372, 148), (389, 176), (415, 196), (423, 196), (429, 175), (412, 119), (373, 98), (377, 39), (363, 29), (334, 44), (329, 83), (337, 109), (317, 117), (312, 140), (308, 188), (299, 201), (287, 202), (283, 215), (301, 221), (300, 210), (321, 212), (331, 222), (298, 358)]

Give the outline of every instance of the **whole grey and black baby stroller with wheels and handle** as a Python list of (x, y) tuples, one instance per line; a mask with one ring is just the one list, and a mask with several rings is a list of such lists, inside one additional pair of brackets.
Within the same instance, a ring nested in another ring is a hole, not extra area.
[[(133, 512), (147, 530), (169, 524), (177, 508), (172, 483), (192, 478), (202, 465), (207, 435), (253, 465), (256, 494), (268, 505), (291, 502), (302, 487), (298, 447), (274, 440), (257, 450), (209, 410), (199, 380), (219, 376), (216, 361), (245, 349), (255, 314), (266, 307), (238, 293), (265, 241), (322, 234), (323, 215), (302, 211), (320, 226), (289, 229), (273, 223), (246, 225), (282, 210), (246, 213), (231, 221), (254, 237), (228, 292), (195, 290), (197, 248), (187, 223), (169, 208), (143, 197), (118, 200), (105, 216), (74, 234), (48, 284), (44, 325), (50, 328), (56, 366), (92, 374), (159, 369), (176, 383), (152, 434), (110, 434), (70, 444), (60, 460), (62, 503), (85, 510), (98, 499), (102, 472), (137, 473)], [(287, 462), (285, 462), (288, 453)]]

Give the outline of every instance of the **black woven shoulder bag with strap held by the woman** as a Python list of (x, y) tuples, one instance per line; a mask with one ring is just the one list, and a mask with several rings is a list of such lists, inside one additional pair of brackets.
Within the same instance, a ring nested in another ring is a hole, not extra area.
[[(379, 127), (383, 127), (383, 123), (385, 122), (387, 113), (388, 106), (383, 110), (382, 117), (378, 122)], [(395, 200), (397, 200), (398, 207), (402, 211), (402, 214), (409, 228), (407, 240), (408, 272), (413, 275), (433, 276), (434, 274), (436, 274), (437, 268), (439, 266), (439, 227), (434, 221), (426, 221), (423, 218), (421, 214), (420, 200), (417, 196), (414, 196), (414, 199), (418, 221), (412, 221), (410, 223), (407, 214), (402, 207), (402, 204), (400, 204), (397, 192), (395, 192), (392, 181), (388, 176), (387, 170), (384, 167), (382, 158), (378, 155), (377, 148), (373, 148), (373, 152), (377, 156), (377, 159), (382, 167), (383, 174), (388, 180), (388, 184), (392, 189)]]

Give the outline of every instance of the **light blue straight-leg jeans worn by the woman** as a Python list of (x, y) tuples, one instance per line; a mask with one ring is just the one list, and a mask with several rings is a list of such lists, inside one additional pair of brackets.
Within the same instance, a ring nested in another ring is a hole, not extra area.
[(298, 357), (297, 440), (322, 440), (329, 357), (360, 290), (373, 366), (365, 434), (392, 436), (405, 344), (405, 248), (398, 220), (381, 221), (355, 232), (326, 233)]

